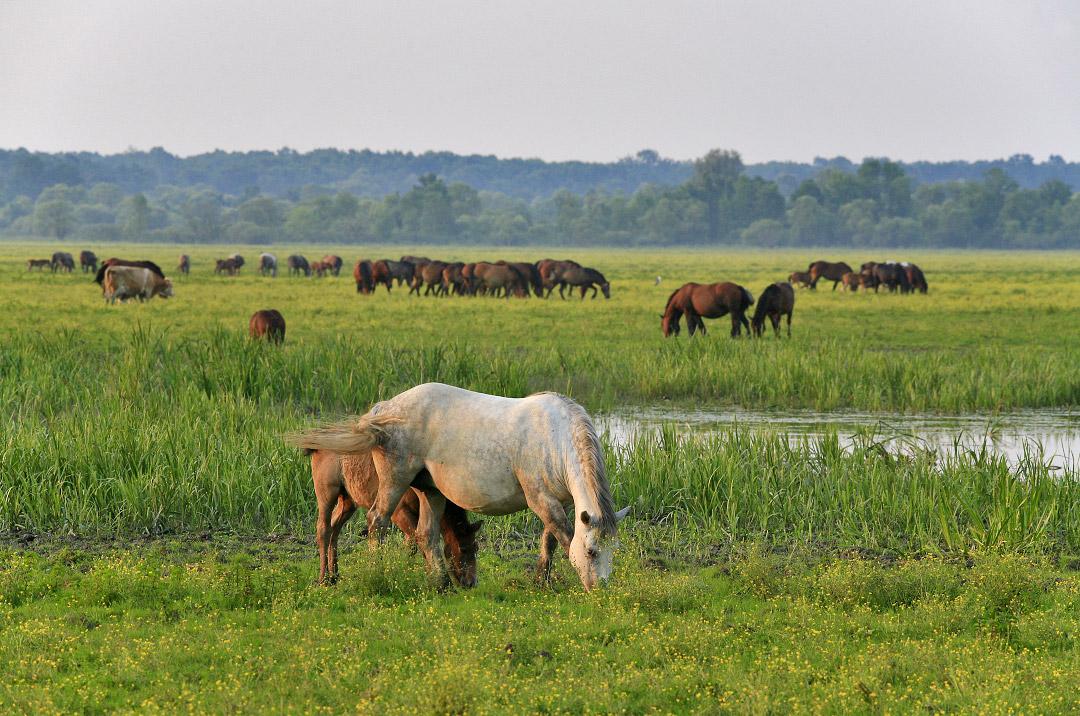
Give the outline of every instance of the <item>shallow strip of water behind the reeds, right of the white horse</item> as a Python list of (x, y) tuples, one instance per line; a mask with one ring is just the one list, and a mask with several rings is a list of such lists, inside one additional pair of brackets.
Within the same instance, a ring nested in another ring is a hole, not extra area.
[(986, 448), (1015, 463), (1039, 456), (1045, 463), (1080, 467), (1080, 410), (1021, 410), (1003, 415), (895, 415), (813, 410), (673, 409), (625, 407), (598, 416), (597, 427), (613, 443), (681, 425), (689, 434), (731, 428), (786, 434), (793, 442), (836, 433), (841, 443), (873, 435), (891, 449), (930, 448), (941, 455)]

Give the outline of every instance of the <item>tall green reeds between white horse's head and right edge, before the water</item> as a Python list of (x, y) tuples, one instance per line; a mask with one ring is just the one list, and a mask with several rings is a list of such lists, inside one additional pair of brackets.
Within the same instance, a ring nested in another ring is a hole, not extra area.
[(687, 437), (671, 425), (611, 450), (617, 501), (713, 539), (894, 553), (1080, 548), (1080, 476), (1037, 454), (1011, 467), (987, 450), (895, 455), (836, 434)]

